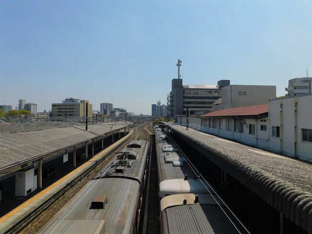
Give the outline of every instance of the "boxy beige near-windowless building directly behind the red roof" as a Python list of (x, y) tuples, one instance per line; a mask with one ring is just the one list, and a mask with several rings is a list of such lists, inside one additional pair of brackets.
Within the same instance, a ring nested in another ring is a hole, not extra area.
[(221, 98), (214, 103), (213, 110), (267, 104), (270, 98), (276, 98), (276, 86), (229, 83), (221, 88)]

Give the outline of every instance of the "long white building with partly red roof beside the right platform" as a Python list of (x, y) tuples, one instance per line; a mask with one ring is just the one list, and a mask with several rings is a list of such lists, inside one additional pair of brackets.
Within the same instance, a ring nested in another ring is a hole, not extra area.
[(312, 161), (312, 94), (217, 110), (199, 118), (203, 132)]

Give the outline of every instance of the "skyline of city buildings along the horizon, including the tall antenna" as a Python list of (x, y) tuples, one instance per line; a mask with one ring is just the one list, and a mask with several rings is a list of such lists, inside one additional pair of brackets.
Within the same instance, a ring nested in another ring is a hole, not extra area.
[[(178, 64), (177, 64), (178, 65)], [(180, 66), (180, 65), (179, 65)], [(178, 68), (179, 68), (178, 66)], [(179, 71), (178, 71), (179, 73)], [(288, 81), (285, 88), (286, 97), (311, 94), (312, 78), (293, 78)], [(231, 85), (230, 80), (219, 80), (217, 85), (183, 85), (182, 79), (172, 80), (171, 92), (167, 95), (165, 104), (160, 99), (152, 104), (152, 117), (173, 117), (176, 120), (187, 115), (198, 116), (211, 111), (222, 109), (244, 107), (252, 105), (267, 104), (268, 100), (276, 98), (276, 86), (271, 85)], [(93, 110), (89, 100), (77, 98), (66, 98), (59, 103), (52, 103), (51, 110), (38, 112), (36, 103), (26, 102), (20, 99), (19, 104), (13, 109), (12, 105), (1, 103), (0, 109), (4, 113), (11, 110), (27, 110), (31, 116), (46, 117), (86, 117), (86, 106), (88, 105), (88, 117), (125, 117), (135, 116), (124, 108), (114, 108), (113, 103), (100, 103), (99, 111)], [(199, 120), (197, 120), (199, 121)]]

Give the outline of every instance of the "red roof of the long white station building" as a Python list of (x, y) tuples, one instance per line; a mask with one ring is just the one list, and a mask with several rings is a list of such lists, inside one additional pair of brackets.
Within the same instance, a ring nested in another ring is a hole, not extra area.
[(238, 108), (230, 108), (209, 112), (199, 117), (217, 117), (217, 116), (251, 116), (260, 115), (269, 112), (269, 104), (245, 106)]

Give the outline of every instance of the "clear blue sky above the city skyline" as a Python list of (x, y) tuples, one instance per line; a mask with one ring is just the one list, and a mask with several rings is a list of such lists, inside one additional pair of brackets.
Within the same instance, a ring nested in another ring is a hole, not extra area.
[(151, 115), (171, 80), (312, 77), (311, 0), (0, 0), (0, 104), (65, 98)]

